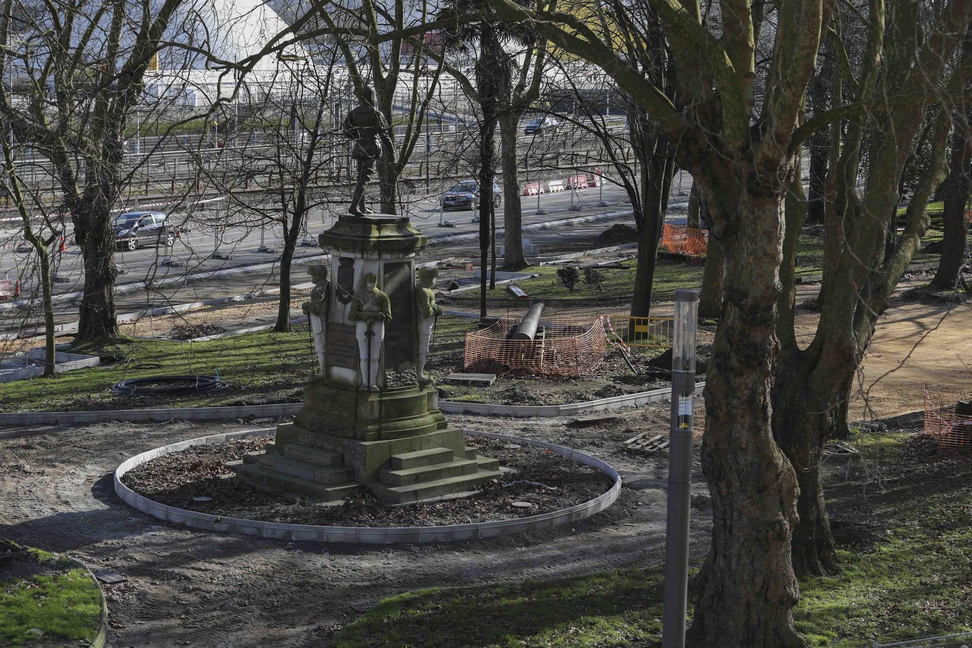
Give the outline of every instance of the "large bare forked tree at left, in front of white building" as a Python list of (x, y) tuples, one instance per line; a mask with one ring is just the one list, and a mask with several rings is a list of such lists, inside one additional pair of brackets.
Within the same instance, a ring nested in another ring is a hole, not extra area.
[[(71, 215), (85, 264), (79, 342), (104, 342), (119, 333), (111, 212), (125, 175), (124, 130), (181, 2), (5, 2), (4, 65), (16, 65), (27, 83), (19, 101), (4, 94), (0, 115), (17, 141), (31, 142), (50, 159), (59, 199)], [(16, 27), (15, 14), (21, 17)]]

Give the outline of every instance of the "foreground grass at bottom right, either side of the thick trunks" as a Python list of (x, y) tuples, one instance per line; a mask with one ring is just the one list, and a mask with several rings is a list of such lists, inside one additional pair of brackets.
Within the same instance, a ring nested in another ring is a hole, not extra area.
[[(885, 467), (893, 466), (907, 461), (904, 438), (884, 437), (867, 448), (880, 447)], [(810, 645), (859, 648), (872, 638), (972, 630), (972, 481), (968, 468), (957, 470), (955, 484), (904, 485), (905, 496), (876, 497), (873, 516), (884, 533), (873, 548), (842, 550), (836, 576), (801, 579), (793, 617)], [(849, 485), (844, 496), (859, 502), (860, 487)], [(663, 570), (401, 594), (345, 627), (336, 645), (654, 645), (661, 638)]]

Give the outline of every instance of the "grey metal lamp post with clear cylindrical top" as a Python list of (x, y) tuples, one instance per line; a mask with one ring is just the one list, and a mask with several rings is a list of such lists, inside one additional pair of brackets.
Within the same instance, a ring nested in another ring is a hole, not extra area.
[(685, 645), (688, 592), (688, 523), (692, 501), (692, 423), (695, 406), (695, 334), (699, 293), (675, 291), (672, 345), (672, 433), (665, 531), (665, 609), (662, 648)]

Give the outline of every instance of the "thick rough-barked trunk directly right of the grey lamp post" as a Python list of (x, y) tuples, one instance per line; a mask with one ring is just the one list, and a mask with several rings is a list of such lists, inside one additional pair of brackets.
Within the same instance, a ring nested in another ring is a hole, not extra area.
[[(725, 209), (727, 197), (706, 187), (703, 196), (710, 209)], [(706, 377), (702, 444), (712, 547), (689, 636), (705, 648), (803, 646), (791, 613), (798, 597), (790, 562), (796, 476), (771, 425), (781, 197), (744, 193), (736, 203), (740, 213), (719, 219), (746, 223), (748, 232), (723, 240), (726, 300)]]

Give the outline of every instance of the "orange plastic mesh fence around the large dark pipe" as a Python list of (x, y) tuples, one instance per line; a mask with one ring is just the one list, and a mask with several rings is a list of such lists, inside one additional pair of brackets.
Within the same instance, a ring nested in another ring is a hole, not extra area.
[(506, 340), (519, 319), (504, 315), (492, 326), (466, 334), (466, 368), (503, 367), (534, 374), (581, 376), (608, 353), (602, 318), (591, 322), (543, 320), (535, 340)]

